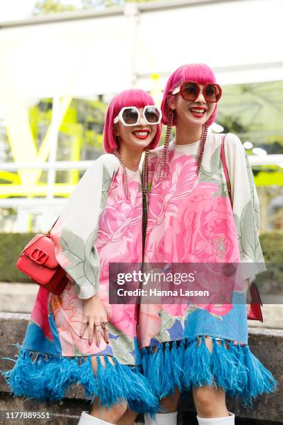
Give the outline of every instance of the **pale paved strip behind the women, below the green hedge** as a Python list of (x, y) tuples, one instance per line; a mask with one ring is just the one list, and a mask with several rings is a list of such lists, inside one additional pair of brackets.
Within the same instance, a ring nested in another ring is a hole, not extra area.
[[(38, 286), (33, 283), (0, 283), (1, 313), (31, 313)], [(265, 304), (264, 323), (249, 320), (249, 326), (283, 329), (283, 304)]]

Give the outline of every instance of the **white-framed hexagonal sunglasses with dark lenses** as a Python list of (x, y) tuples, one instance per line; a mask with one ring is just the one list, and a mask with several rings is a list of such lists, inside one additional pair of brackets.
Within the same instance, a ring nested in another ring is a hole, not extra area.
[(124, 126), (136, 126), (139, 124), (141, 115), (146, 124), (149, 125), (160, 124), (162, 119), (162, 112), (157, 106), (145, 106), (142, 113), (139, 112), (136, 106), (125, 106), (120, 110), (117, 117), (114, 118), (114, 124), (121, 121)]

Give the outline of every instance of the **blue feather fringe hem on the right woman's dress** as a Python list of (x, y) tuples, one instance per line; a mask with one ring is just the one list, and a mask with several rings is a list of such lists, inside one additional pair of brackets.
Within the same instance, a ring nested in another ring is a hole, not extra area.
[(252, 407), (252, 399), (274, 392), (277, 382), (271, 372), (250, 352), (248, 345), (212, 338), (209, 352), (205, 337), (184, 338), (141, 351), (141, 366), (153, 393), (162, 399), (204, 385), (221, 387), (230, 397)]

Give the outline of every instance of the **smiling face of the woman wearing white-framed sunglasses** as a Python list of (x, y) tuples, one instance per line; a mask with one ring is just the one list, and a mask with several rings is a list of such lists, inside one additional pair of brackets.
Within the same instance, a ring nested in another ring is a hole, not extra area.
[[(140, 113), (144, 108), (137, 108)], [(136, 126), (124, 126), (121, 121), (114, 125), (114, 135), (117, 137), (119, 147), (125, 145), (133, 151), (143, 151), (153, 141), (157, 132), (157, 124), (146, 124), (141, 115)]]

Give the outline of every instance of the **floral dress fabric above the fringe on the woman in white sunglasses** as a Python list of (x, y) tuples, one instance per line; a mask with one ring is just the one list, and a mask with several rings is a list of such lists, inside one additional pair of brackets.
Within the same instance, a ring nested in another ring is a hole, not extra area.
[[(55, 224), (51, 238), (69, 283), (59, 296), (40, 288), (23, 348), (59, 356), (108, 354), (139, 364), (137, 305), (108, 302), (109, 263), (142, 261), (140, 172), (128, 170), (129, 198), (117, 158), (103, 155), (83, 178)], [(108, 316), (110, 344), (79, 337), (83, 299), (97, 293)]]

